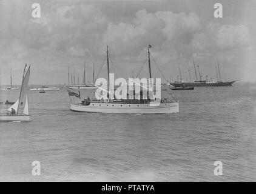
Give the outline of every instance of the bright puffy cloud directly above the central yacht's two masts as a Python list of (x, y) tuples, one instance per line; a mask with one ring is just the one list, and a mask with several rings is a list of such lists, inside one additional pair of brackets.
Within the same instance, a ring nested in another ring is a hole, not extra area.
[[(111, 44), (119, 55), (136, 55), (141, 53), (147, 44), (152, 44), (158, 49), (169, 48), (176, 43), (189, 44), (192, 34), (200, 28), (201, 21), (196, 13), (147, 13), (143, 9), (136, 12), (130, 23), (110, 22), (103, 35), (103, 44)], [(177, 46), (177, 50), (180, 48)]]

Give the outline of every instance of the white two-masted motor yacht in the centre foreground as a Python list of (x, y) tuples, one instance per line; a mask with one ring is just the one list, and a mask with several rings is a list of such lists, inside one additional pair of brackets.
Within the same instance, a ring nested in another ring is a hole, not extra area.
[[(149, 63), (149, 78), (151, 76), (150, 69), (150, 51), (148, 52), (148, 63)], [(109, 79), (109, 51), (107, 47), (107, 75), (108, 85), (110, 85)], [(94, 113), (127, 113), (127, 114), (148, 114), (148, 113), (178, 113), (179, 102), (177, 99), (161, 98), (161, 99), (150, 99), (147, 95), (146, 99), (116, 99), (110, 97), (110, 87), (108, 86), (107, 99), (81, 99), (80, 90), (73, 91), (67, 89), (70, 98), (70, 110), (76, 112), (94, 112)], [(141, 92), (140, 92), (141, 93)], [(147, 90), (149, 94), (149, 90)]]

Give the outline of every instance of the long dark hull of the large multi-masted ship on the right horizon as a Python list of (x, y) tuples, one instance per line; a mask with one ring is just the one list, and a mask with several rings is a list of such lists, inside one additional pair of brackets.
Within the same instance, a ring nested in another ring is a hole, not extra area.
[(229, 82), (173, 82), (175, 87), (219, 87), (219, 86), (232, 86), (235, 81)]

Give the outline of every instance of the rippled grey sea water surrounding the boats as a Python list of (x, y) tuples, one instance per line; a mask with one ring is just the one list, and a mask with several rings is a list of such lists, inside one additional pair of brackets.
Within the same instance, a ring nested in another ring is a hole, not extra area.
[(72, 112), (66, 89), (29, 92), (32, 121), (0, 123), (0, 181), (255, 181), (256, 87), (173, 93), (180, 113), (113, 115)]

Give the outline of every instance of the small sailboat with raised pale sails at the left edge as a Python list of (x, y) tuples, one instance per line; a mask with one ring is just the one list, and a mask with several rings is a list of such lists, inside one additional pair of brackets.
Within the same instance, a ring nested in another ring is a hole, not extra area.
[(7, 109), (8, 112), (6, 115), (0, 115), (0, 121), (30, 121), (29, 99), (27, 92), (29, 87), (30, 66), (27, 71), (25, 70), (26, 67), (27, 64), (24, 67), (19, 99), (15, 104)]

